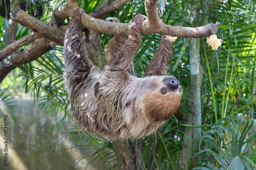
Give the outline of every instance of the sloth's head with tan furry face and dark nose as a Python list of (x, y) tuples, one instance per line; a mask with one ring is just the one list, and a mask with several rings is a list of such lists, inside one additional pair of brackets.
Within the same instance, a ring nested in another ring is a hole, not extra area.
[[(172, 117), (180, 106), (182, 88), (173, 76), (150, 77), (140, 107), (151, 123), (161, 123)], [(148, 80), (147, 80), (148, 82)]]

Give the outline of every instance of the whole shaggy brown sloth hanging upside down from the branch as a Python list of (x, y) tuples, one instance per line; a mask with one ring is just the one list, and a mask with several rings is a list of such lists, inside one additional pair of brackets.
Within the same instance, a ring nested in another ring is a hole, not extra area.
[(171, 42), (162, 37), (144, 77), (134, 74), (132, 62), (142, 41), (143, 20), (141, 14), (135, 16), (127, 39), (114, 35), (105, 47), (108, 65), (100, 71), (89, 59), (82, 39), (81, 10), (74, 10), (64, 41), (64, 77), (82, 132), (110, 139), (141, 138), (178, 110), (182, 88), (175, 77), (166, 76)]

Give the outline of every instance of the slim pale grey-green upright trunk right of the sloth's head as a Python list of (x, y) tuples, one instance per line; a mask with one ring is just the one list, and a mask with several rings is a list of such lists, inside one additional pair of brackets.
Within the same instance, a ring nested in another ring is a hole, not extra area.
[[(196, 19), (197, 8), (200, 6), (200, 2), (193, 0), (191, 4), (191, 17), (190, 23)], [(198, 22), (198, 20), (197, 20)], [(186, 114), (186, 125), (201, 125), (201, 82), (202, 74), (200, 74), (200, 39), (189, 39), (189, 65), (190, 65), (190, 87), (189, 87), (189, 106), (191, 106), (192, 113)], [(188, 129), (185, 128), (183, 138), (183, 146), (181, 153), (181, 169), (188, 169), (191, 165), (189, 149), (192, 147), (193, 142), (201, 134), (201, 128)]]

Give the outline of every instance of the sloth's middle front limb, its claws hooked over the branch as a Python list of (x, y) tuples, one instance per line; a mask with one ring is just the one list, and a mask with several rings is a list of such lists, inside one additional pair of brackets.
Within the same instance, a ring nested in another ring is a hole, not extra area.
[(131, 34), (129, 35), (124, 48), (116, 58), (109, 64), (111, 71), (123, 71), (126, 72), (132, 64), (133, 58), (141, 44), (141, 23), (144, 17), (141, 14), (137, 14), (134, 18), (134, 22), (131, 28)]

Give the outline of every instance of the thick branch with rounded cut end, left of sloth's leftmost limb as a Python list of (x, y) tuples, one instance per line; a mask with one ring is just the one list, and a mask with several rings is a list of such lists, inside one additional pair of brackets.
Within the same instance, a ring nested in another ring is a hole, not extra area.
[(57, 30), (51, 26), (48, 26), (45, 22), (36, 19), (35, 17), (27, 14), (20, 8), (16, 8), (11, 11), (12, 20), (20, 23), (24, 27), (27, 27), (31, 31), (39, 33), (43, 37), (47, 37), (61, 45), (63, 45), (63, 40), (65, 33)]

